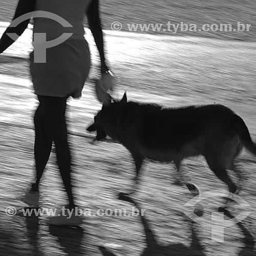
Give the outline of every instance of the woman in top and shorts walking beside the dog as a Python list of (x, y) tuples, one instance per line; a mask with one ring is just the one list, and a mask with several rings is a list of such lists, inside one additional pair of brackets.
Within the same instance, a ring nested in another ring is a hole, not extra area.
[[(71, 181), (71, 154), (68, 143), (66, 124), (67, 99), (81, 96), (84, 82), (90, 70), (90, 51), (82, 19), (88, 17), (89, 27), (94, 36), (101, 60), (101, 72), (108, 72), (103, 50), (103, 36), (99, 17), (98, 0), (19, 0), (13, 20), (34, 11), (44, 11), (65, 19), (72, 27), (65, 28), (47, 17), (33, 18), (35, 33), (45, 33), (46, 40), (51, 41), (63, 33), (72, 34), (61, 44), (46, 49), (46, 62), (34, 61), (34, 51), (30, 54), (30, 72), (35, 94), (39, 105), (34, 115), (35, 143), (34, 157), (36, 167), (35, 183), (24, 196), (24, 202), (38, 207), (39, 183), (48, 162), (52, 143), (56, 148), (57, 163), (60, 175), (67, 191), (69, 209), (74, 209), (75, 202)], [(16, 27), (8, 27), (0, 39), (0, 53), (3, 53), (14, 42), (7, 33), (21, 35), (29, 24), (29, 19)], [(43, 41), (42, 41), (43, 42)], [(40, 41), (37, 44), (40, 44)], [(51, 217), (55, 225), (79, 225), (80, 217), (72, 215)]]

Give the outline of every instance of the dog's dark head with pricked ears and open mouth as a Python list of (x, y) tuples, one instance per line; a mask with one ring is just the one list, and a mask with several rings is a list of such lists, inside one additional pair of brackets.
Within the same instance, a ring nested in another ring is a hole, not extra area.
[(101, 110), (94, 117), (94, 123), (87, 127), (88, 132), (97, 132), (95, 140), (102, 140), (107, 135), (112, 137), (110, 132), (113, 126), (111, 123), (111, 117), (113, 117), (113, 111), (119, 108), (120, 104), (127, 102), (126, 92), (120, 101), (110, 99), (108, 102), (104, 102)]

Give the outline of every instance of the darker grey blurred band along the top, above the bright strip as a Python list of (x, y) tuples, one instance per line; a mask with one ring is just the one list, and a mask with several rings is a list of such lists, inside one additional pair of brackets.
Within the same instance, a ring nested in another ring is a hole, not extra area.
[[(17, 0), (2, 0), (0, 3), (0, 21), (10, 22), (13, 16)], [(254, 0), (180, 0), (169, 1), (147, 0), (140, 2), (137, 0), (115, 0), (100, 1), (100, 11), (102, 25), (105, 30), (111, 30), (113, 22), (122, 24), (121, 31), (129, 31), (127, 24), (162, 24), (163, 29), (154, 32), (150, 29), (150, 34), (165, 34), (168, 36), (199, 36), (224, 40), (256, 40), (256, 2)], [(223, 32), (223, 31), (181, 31), (176, 34), (168, 32), (166, 24), (170, 22), (176, 26), (185, 23), (188, 26), (195, 24), (201, 28), (203, 24), (231, 24), (232, 28), (237, 28), (237, 23), (251, 24), (248, 32)], [(85, 22), (86, 24), (86, 22)]]

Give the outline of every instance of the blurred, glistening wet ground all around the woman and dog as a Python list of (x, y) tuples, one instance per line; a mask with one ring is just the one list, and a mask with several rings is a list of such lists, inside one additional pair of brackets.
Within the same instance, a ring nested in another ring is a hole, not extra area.
[[(15, 11), (16, 0), (1, 0), (0, 35)], [(243, 117), (256, 140), (256, 2), (212, 1), (100, 1), (107, 59), (117, 75), (114, 97), (127, 91), (128, 100), (155, 102), (165, 106), (222, 103)], [(113, 31), (111, 24), (122, 24)], [(130, 32), (127, 24), (251, 24), (249, 31)], [(81, 208), (126, 208), (133, 204), (118, 200), (120, 191), (132, 184), (134, 166), (119, 144), (90, 144), (89, 125), (101, 108), (93, 80), (99, 77), (99, 58), (90, 31), (93, 67), (80, 100), (69, 101), (70, 134), (75, 154), (76, 194)], [(33, 111), (37, 101), (29, 77), (28, 54), (31, 29), (0, 56), (0, 249), (1, 255), (255, 255), (256, 161), (244, 152), (239, 157), (243, 171), (241, 197), (251, 214), (243, 222), (225, 229), (225, 242), (211, 241), (211, 229), (189, 222), (183, 214), (189, 195), (186, 187), (173, 184), (172, 164), (146, 162), (136, 195), (141, 217), (91, 217), (81, 228), (49, 228), (47, 216), (8, 217), (5, 208), (24, 205), (19, 195), (33, 173)], [(203, 158), (188, 159), (184, 168), (202, 192), (226, 191), (212, 176)], [(42, 182), (41, 205), (65, 203), (54, 158)], [(231, 176), (233, 174), (230, 174)], [(236, 180), (236, 177), (233, 177)], [(223, 192), (223, 193), (224, 193)], [(216, 210), (218, 198), (204, 202), (205, 217)], [(220, 201), (221, 202), (221, 201)], [(219, 202), (219, 203), (220, 203)], [(234, 204), (233, 216), (245, 209)], [(232, 216), (225, 217), (231, 219)], [(101, 246), (100, 248), (98, 246)]]

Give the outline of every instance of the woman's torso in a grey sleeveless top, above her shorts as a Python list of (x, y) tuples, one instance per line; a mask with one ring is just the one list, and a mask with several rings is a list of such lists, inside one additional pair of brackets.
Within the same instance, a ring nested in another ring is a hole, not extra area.
[[(58, 15), (71, 24), (72, 27), (65, 27), (65, 24), (60, 24), (57, 20), (45, 16), (35, 17), (33, 18), (33, 35), (35, 36), (35, 33), (46, 33), (46, 40), (50, 41), (58, 38), (63, 33), (72, 33), (69, 40), (83, 39), (82, 20), (91, 1), (93, 0), (36, 0), (35, 11), (45, 12), (39, 12), (39, 15), (44, 16), (46, 12), (51, 13), (51, 15)], [(57, 19), (61, 22), (59, 17)]]

